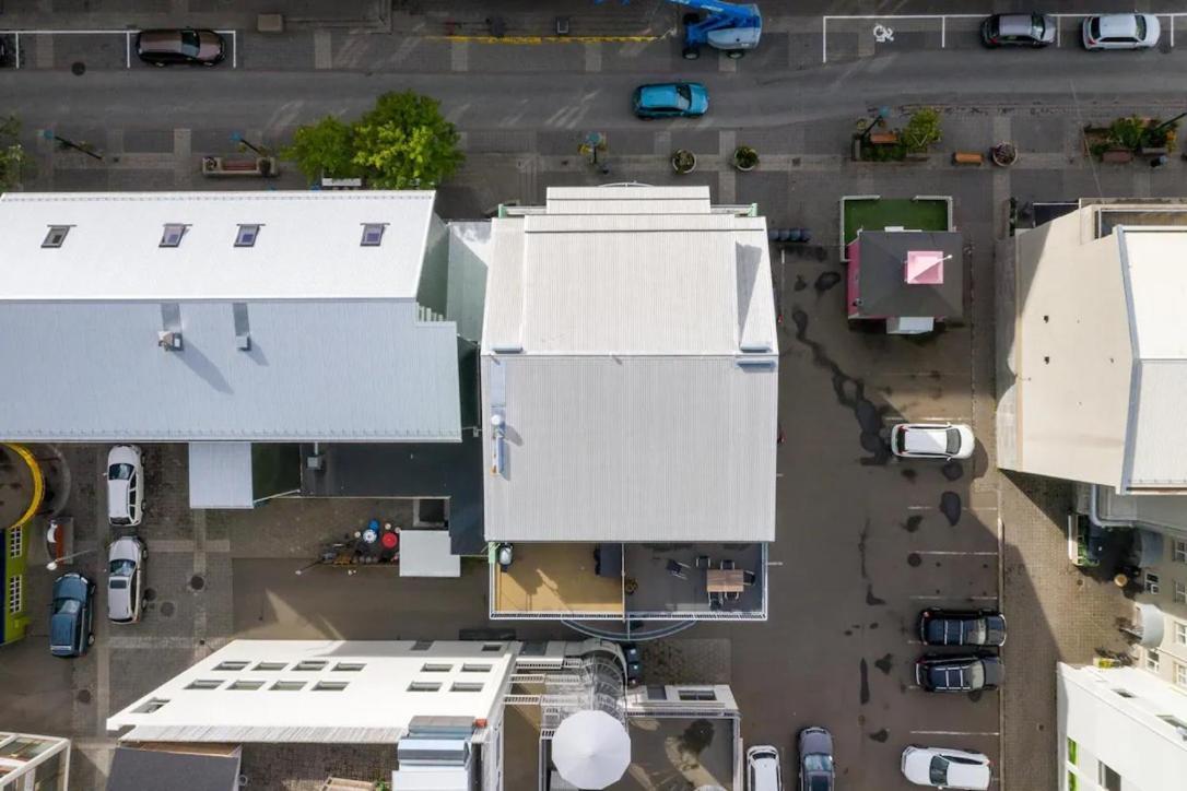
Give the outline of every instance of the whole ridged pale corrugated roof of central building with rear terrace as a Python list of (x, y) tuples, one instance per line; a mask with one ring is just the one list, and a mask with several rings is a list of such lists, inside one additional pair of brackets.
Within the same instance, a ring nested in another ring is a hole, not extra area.
[[(774, 540), (766, 223), (707, 198), (550, 190), (546, 213), (495, 222), (483, 414), (504, 419), (506, 439), (484, 487), (488, 538)], [(493, 459), (490, 432), (483, 442)]]

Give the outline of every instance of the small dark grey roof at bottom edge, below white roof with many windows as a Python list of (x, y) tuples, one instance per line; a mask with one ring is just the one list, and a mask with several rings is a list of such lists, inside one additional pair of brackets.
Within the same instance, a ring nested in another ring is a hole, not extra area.
[(239, 767), (239, 755), (116, 747), (107, 791), (235, 791)]

